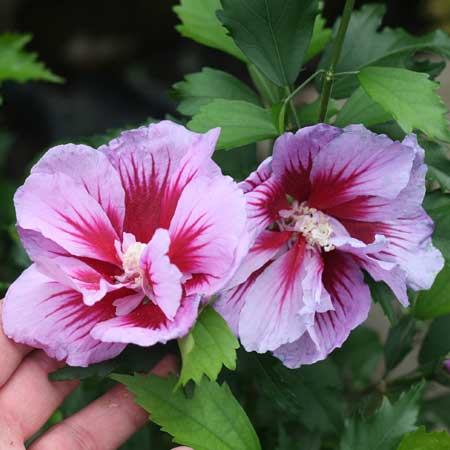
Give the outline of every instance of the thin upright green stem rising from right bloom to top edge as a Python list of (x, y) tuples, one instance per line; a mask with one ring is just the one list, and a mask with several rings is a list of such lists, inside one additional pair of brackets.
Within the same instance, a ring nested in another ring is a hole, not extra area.
[(344, 44), (345, 33), (347, 32), (350, 17), (352, 15), (355, 0), (346, 0), (344, 12), (342, 13), (341, 23), (336, 36), (336, 41), (331, 54), (330, 67), (325, 72), (322, 86), (322, 99), (320, 103), (319, 122), (325, 122), (328, 111), (328, 102), (330, 101), (331, 90), (333, 88), (334, 70), (341, 56), (342, 45)]

